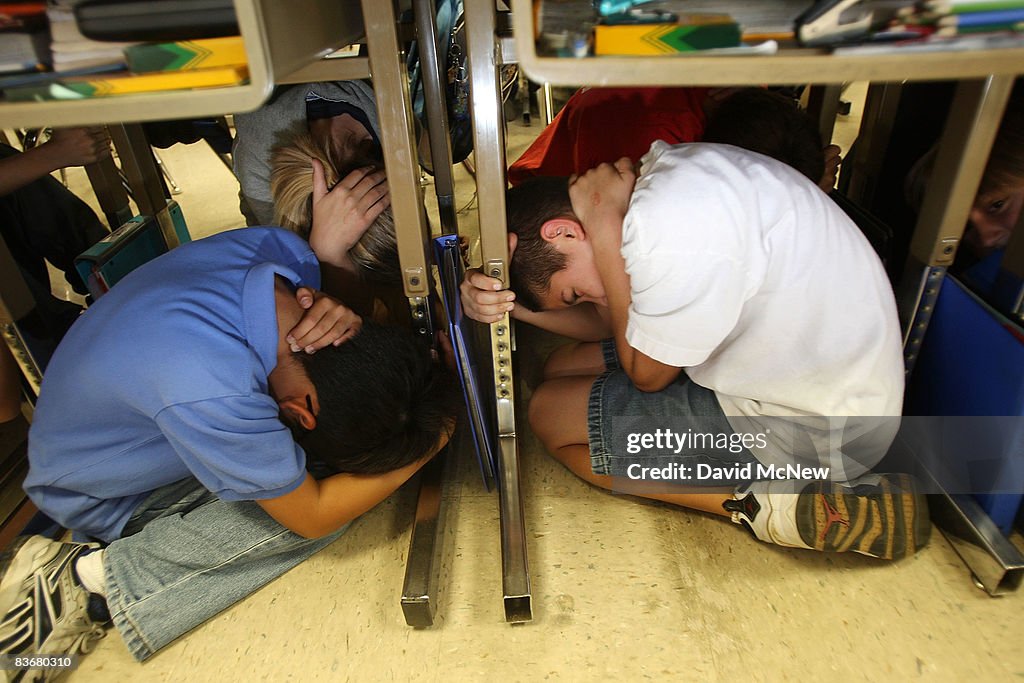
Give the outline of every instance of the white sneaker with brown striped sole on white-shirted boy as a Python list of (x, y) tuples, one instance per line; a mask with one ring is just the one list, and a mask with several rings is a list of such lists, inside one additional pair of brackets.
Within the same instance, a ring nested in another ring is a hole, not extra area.
[(906, 474), (867, 475), (845, 484), (754, 481), (723, 507), (767, 543), (896, 560), (928, 542), (932, 524), (925, 497)]

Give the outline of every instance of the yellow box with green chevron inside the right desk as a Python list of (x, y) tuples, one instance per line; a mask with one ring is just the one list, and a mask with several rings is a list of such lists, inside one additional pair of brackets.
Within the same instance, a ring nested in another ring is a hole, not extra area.
[(739, 25), (728, 14), (680, 15), (675, 24), (599, 24), (594, 54), (676, 54), (739, 45)]

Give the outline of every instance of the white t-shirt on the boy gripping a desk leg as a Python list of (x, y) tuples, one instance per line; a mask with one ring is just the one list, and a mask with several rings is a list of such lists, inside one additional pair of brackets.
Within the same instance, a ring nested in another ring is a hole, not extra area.
[(727, 416), (900, 414), (901, 336), (882, 263), (790, 166), (726, 144), (654, 142), (622, 254), (627, 341), (684, 368)]

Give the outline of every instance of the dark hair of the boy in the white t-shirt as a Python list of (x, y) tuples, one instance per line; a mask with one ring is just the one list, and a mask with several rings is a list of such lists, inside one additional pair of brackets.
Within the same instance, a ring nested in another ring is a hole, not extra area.
[(509, 232), (517, 242), (509, 264), (512, 291), (518, 302), (540, 310), (540, 295), (551, 287), (551, 276), (565, 267), (565, 255), (541, 237), (545, 222), (572, 216), (568, 178), (529, 178), (508, 190), (505, 213)]

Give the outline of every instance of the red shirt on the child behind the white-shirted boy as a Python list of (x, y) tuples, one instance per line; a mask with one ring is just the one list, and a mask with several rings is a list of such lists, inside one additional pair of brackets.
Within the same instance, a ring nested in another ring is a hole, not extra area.
[(623, 157), (637, 162), (654, 140), (699, 140), (707, 96), (708, 88), (583, 88), (512, 164), (509, 182), (582, 173)]

